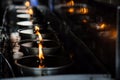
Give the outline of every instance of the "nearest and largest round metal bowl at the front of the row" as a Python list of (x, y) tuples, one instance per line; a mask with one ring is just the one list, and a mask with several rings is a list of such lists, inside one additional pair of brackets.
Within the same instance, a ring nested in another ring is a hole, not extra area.
[(27, 56), (15, 60), (23, 76), (46, 76), (67, 73), (72, 60), (64, 56), (45, 56), (44, 68), (39, 68), (40, 59), (37, 56)]

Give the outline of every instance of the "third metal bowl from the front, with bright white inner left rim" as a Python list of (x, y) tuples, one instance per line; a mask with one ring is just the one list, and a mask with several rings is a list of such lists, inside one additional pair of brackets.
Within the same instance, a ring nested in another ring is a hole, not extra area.
[[(27, 40), (27, 39), (35, 39), (36, 35), (34, 34), (33, 29), (20, 29), (18, 30), (19, 35), (21, 37), (21, 40)], [(48, 29), (42, 29), (40, 30), (40, 33), (43, 37), (43, 39), (51, 39), (55, 41), (59, 41), (55, 33)]]

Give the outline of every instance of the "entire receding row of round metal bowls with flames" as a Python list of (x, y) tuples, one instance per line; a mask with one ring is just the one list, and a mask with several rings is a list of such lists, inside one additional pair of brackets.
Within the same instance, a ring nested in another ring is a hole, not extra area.
[[(30, 3), (14, 6), (14, 9), (16, 15), (12, 17), (16, 19), (16, 27), (13, 29), (16, 32), (10, 33), (10, 44), (15, 65), (21, 74), (45, 76), (67, 73), (72, 60), (45, 15), (37, 7), (31, 7)], [(43, 55), (40, 58), (41, 50)]]

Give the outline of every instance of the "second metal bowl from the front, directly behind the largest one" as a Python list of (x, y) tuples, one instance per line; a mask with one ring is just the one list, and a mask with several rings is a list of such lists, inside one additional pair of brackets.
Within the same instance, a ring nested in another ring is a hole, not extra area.
[[(38, 55), (38, 43), (36, 40), (24, 40), (20, 43), (20, 51), (24, 53), (25, 56), (28, 55)], [(60, 43), (53, 40), (43, 40), (43, 54), (44, 55), (65, 55), (62, 53), (62, 47)]]

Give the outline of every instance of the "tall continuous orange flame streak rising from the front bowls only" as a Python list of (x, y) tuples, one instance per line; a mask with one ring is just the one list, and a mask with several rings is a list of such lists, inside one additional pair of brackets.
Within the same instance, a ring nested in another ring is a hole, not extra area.
[[(42, 41), (42, 35), (40, 34), (39, 32), (40, 28), (38, 26), (35, 26), (35, 32), (36, 32), (36, 35), (38, 36), (38, 40), (41, 42)], [(43, 55), (43, 51), (42, 51), (42, 44), (41, 43), (38, 43), (38, 52), (39, 52), (39, 59), (40, 59), (40, 65), (39, 65), (39, 68), (43, 68), (44, 65), (42, 65), (42, 61), (44, 59), (44, 55)]]

